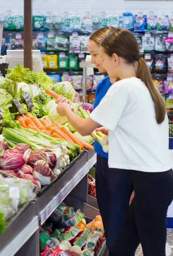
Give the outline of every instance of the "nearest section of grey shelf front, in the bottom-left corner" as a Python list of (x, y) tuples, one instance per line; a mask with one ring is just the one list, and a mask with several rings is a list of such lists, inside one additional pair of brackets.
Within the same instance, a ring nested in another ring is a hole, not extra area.
[(0, 256), (14, 256), (38, 229), (36, 201), (21, 209), (0, 235)]

